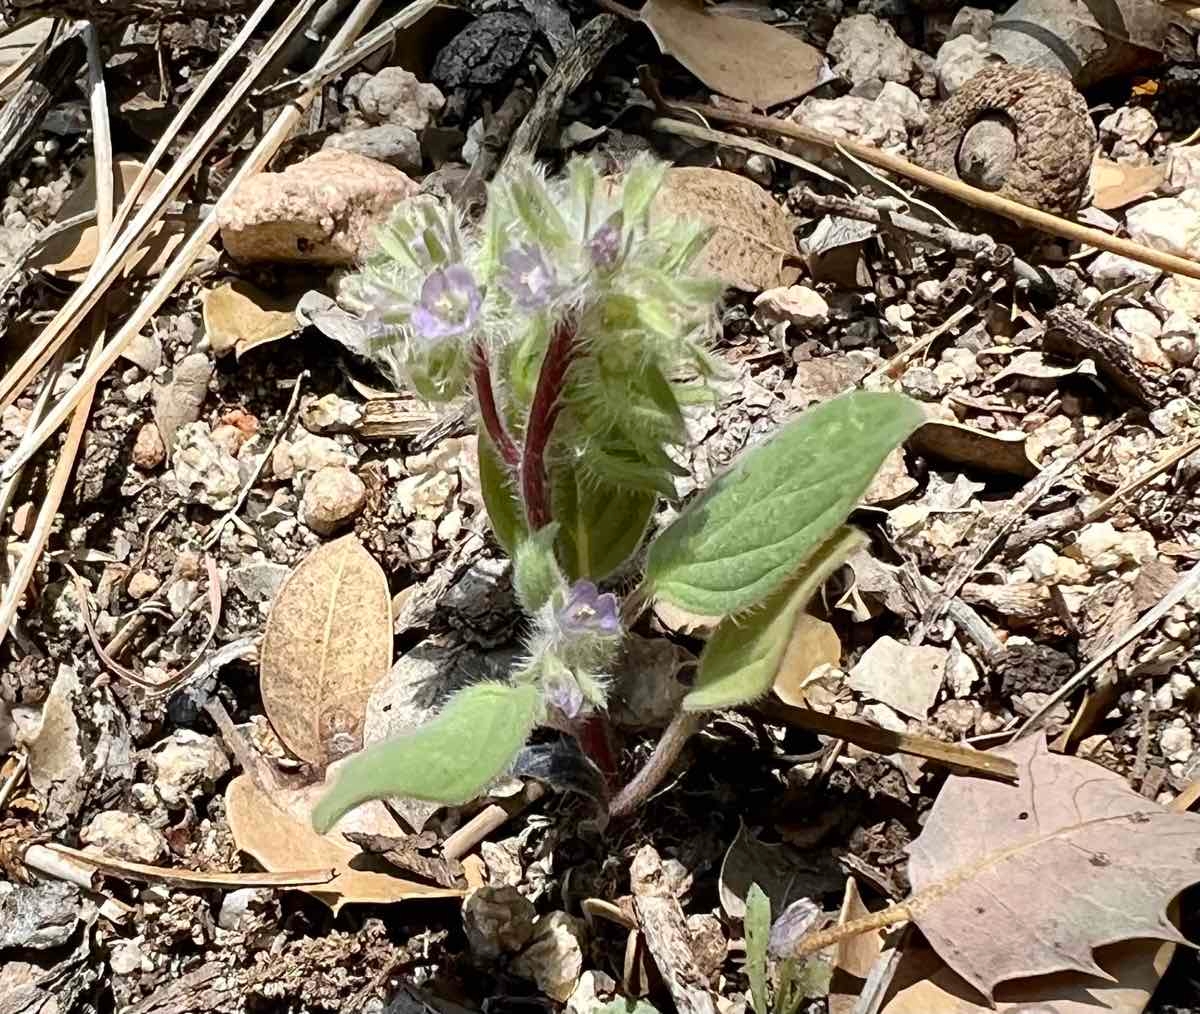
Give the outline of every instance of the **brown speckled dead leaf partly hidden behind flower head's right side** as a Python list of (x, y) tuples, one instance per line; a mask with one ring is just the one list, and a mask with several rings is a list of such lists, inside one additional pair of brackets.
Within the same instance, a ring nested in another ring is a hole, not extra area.
[(722, 169), (668, 169), (654, 208), (715, 230), (695, 263), (696, 274), (716, 275), (755, 293), (799, 277), (797, 268), (785, 264), (797, 256), (791, 216), (745, 176)]

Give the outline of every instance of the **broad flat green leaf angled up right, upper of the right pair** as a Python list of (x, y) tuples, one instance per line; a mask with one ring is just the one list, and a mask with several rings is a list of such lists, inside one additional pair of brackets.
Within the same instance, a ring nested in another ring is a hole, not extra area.
[(923, 420), (917, 402), (895, 394), (854, 391), (809, 409), (743, 455), (654, 541), (652, 593), (700, 616), (763, 601), (846, 520)]

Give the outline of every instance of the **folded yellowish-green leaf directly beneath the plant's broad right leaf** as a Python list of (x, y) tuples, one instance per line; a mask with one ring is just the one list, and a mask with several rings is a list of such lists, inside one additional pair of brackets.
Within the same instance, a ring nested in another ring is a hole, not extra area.
[(796, 618), (822, 582), (866, 538), (842, 528), (785, 584), (749, 616), (725, 617), (700, 655), (696, 684), (683, 698), (684, 710), (712, 712), (754, 701), (770, 690), (796, 629)]

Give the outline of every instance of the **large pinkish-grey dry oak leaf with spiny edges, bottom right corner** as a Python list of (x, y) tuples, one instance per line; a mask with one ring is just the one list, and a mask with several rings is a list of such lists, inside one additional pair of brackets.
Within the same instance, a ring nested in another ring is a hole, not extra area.
[(992, 1000), (1009, 979), (1105, 977), (1092, 953), (1105, 944), (1187, 943), (1166, 906), (1200, 881), (1200, 816), (1051, 754), (1043, 736), (995, 752), (1020, 784), (950, 776), (908, 850), (902, 907), (950, 968)]

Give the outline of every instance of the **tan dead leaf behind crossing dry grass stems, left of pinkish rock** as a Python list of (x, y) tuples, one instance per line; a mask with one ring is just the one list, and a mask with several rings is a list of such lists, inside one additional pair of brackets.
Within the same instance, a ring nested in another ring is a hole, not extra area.
[[(113, 197), (116, 204), (125, 199), (127, 188), (142, 172), (142, 163), (132, 158), (120, 158), (113, 164)], [(150, 180), (142, 190), (137, 206), (140, 206), (154, 188), (163, 180), (157, 169), (150, 174)], [(78, 215), (94, 211), (96, 208), (96, 169), (89, 163), (83, 182), (74, 188), (71, 197), (54, 216), (55, 223), (66, 222)], [(169, 217), (161, 220), (146, 236), (140, 252), (125, 269), (127, 277), (151, 278), (162, 272), (175, 250), (187, 239), (196, 227), (193, 216)], [(100, 250), (100, 228), (95, 220), (80, 222), (65, 228), (50, 236), (46, 244), (30, 258), (30, 265), (55, 278), (68, 282), (83, 281), (96, 253)], [(212, 246), (205, 247), (199, 260), (215, 259), (217, 252)]]

